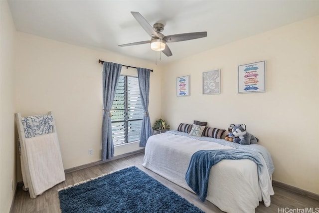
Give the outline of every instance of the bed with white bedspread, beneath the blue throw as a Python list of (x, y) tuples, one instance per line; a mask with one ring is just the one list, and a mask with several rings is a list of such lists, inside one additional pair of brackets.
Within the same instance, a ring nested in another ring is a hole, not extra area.
[(179, 131), (153, 135), (145, 147), (143, 166), (194, 193), (185, 181), (192, 155), (199, 150), (241, 149), (256, 152), (263, 166), (248, 159), (222, 160), (209, 173), (206, 200), (227, 213), (254, 213), (259, 202), (270, 206), (274, 172), (269, 152), (261, 145), (240, 145)]

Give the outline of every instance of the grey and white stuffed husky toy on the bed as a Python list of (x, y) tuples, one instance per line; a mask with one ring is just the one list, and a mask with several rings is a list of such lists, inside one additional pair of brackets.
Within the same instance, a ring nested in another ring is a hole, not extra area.
[(237, 144), (242, 144), (242, 145), (257, 144), (257, 142), (259, 141), (258, 138), (246, 132), (245, 124), (235, 125), (233, 127), (233, 135), (235, 137), (233, 139), (233, 142)]

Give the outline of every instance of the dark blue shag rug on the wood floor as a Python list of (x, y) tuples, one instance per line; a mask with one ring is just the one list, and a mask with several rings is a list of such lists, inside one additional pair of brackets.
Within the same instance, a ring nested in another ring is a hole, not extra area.
[(204, 213), (137, 167), (59, 191), (62, 213)]

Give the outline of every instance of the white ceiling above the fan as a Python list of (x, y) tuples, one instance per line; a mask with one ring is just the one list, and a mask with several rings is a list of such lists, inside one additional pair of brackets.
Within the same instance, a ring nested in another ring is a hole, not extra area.
[[(160, 63), (319, 15), (319, 0), (8, 0), (16, 30), (79, 46), (155, 61), (150, 44), (119, 47), (151, 37), (130, 11), (164, 35), (207, 31), (207, 37), (168, 43)], [(158, 60), (159, 61), (159, 60)]]

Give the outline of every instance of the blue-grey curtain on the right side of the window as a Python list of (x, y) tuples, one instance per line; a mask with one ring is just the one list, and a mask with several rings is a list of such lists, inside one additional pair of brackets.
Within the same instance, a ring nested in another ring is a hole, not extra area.
[(147, 140), (152, 135), (152, 125), (149, 116), (150, 73), (150, 69), (138, 68), (141, 101), (144, 109), (140, 147), (145, 147)]

